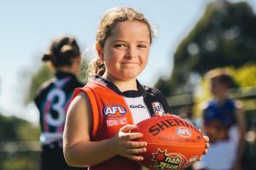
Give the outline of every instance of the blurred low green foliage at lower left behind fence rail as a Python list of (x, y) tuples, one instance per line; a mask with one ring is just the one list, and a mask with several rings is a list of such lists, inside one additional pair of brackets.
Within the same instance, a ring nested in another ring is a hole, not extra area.
[[(31, 122), (15, 116), (3, 116), (0, 113), (0, 146), (3, 143), (19, 141), (38, 141), (39, 127)], [(3, 149), (3, 148), (1, 148)], [(40, 152), (33, 151), (1, 151), (0, 169), (3, 170), (34, 170), (39, 169)]]

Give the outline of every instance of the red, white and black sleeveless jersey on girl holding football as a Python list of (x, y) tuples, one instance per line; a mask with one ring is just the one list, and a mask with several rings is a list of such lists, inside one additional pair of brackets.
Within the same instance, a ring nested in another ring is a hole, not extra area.
[[(119, 128), (126, 124), (137, 124), (151, 116), (169, 113), (166, 98), (155, 88), (143, 87), (137, 82), (138, 91), (120, 92), (113, 82), (96, 76), (84, 88), (76, 89), (74, 96), (84, 91), (92, 107), (91, 140), (99, 141), (112, 138)], [(103, 151), (103, 150), (102, 150)], [(90, 167), (92, 170), (137, 170), (141, 165), (122, 156)]]

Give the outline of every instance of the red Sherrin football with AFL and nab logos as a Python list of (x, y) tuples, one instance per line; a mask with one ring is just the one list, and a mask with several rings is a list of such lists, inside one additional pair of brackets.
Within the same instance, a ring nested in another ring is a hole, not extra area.
[(133, 132), (143, 133), (147, 152), (141, 154), (149, 169), (183, 169), (203, 154), (205, 139), (197, 127), (179, 116), (154, 116), (139, 122)]

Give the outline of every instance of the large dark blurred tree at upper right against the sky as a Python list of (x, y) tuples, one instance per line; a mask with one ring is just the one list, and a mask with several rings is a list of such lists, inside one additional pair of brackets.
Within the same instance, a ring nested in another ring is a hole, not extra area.
[(156, 88), (166, 96), (190, 94), (201, 76), (213, 68), (255, 63), (255, 30), (256, 16), (247, 3), (209, 3), (201, 20), (177, 47), (172, 76), (160, 79)]

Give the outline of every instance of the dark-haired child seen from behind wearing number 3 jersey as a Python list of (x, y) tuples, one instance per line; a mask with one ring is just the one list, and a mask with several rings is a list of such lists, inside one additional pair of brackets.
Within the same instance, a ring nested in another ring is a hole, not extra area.
[(83, 87), (77, 79), (80, 69), (79, 45), (73, 37), (57, 37), (43, 55), (55, 69), (55, 77), (44, 82), (35, 98), (40, 112), (42, 144), (41, 170), (74, 170), (63, 156), (62, 132), (74, 88)]

